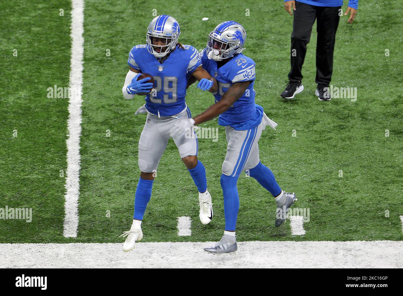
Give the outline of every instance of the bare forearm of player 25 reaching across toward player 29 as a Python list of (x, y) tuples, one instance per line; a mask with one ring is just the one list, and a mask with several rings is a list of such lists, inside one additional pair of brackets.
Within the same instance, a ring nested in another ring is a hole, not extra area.
[(245, 93), (251, 81), (237, 82), (231, 85), (231, 87), (222, 95), (221, 100), (210, 106), (206, 111), (193, 118), (194, 125), (212, 120), (218, 115), (228, 110), (237, 99), (239, 99), (243, 93)]

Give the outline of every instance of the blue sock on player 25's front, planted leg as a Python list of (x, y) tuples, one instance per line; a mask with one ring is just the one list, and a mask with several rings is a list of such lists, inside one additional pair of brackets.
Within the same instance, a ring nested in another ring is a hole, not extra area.
[(235, 231), (239, 210), (238, 177), (221, 174), (220, 183), (224, 195), (225, 230)]

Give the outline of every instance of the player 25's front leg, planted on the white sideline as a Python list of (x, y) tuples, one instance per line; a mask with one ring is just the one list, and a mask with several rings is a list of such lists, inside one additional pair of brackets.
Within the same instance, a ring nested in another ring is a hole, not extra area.
[(210, 253), (231, 253), (237, 250), (235, 237), (235, 226), (239, 210), (237, 181), (254, 141), (257, 141), (260, 137), (258, 127), (250, 130), (235, 130), (230, 126), (226, 126), (225, 132), (228, 145), (220, 178), (224, 195), (225, 231), (219, 242), (204, 249)]

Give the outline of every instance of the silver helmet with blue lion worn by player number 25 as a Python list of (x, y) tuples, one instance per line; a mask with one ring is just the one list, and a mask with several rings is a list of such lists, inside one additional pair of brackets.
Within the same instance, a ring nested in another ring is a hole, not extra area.
[(209, 59), (225, 60), (244, 50), (246, 40), (245, 29), (237, 22), (220, 23), (208, 34), (206, 53)]

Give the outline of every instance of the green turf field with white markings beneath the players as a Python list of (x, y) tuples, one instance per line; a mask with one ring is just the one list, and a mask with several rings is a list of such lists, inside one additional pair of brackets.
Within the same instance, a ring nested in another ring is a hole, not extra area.
[[(398, 33), (403, 24), (402, 9), (394, 2), (362, 1), (352, 25), (347, 17), (341, 18), (332, 84), (357, 87), (357, 100), (326, 102), (314, 95), (316, 25), (303, 67), (305, 90), (293, 100), (279, 98), (289, 72), (293, 20), (281, 1), (219, 6), (210, 0), (86, 1), (77, 238), (63, 237), (65, 176), (60, 177), (60, 170), (67, 165), (68, 99), (47, 97), (48, 87), (69, 85), (71, 2), (35, 3), (29, 9), (23, 1), (0, 4), (0, 207), (33, 209), (31, 223), (0, 219), (0, 243), (123, 242), (118, 236), (131, 225), (139, 178), (137, 146), (145, 115), (133, 115), (143, 99), (125, 100), (121, 88), (128, 53), (133, 45), (145, 43), (153, 9), (157, 15), (174, 16), (181, 25), (179, 41), (199, 50), (222, 21), (238, 21), (247, 31), (243, 53), (256, 62), (256, 103), (278, 123), (276, 131), (263, 132), (260, 158), (283, 189), (297, 193), (295, 207), (310, 209), (310, 221), (304, 224), (303, 236), (291, 235), (289, 222), (275, 228), (276, 206), (270, 193), (252, 178), (241, 176), (239, 241), (403, 240), (399, 218), (403, 215), (403, 38)], [(202, 17), (210, 19), (202, 21)], [(18, 56), (13, 56), (13, 49)], [(189, 88), (187, 104), (193, 115), (212, 103), (210, 93), (194, 85)], [(218, 124), (214, 120), (201, 126)], [(225, 149), (223, 127), (218, 142), (199, 139), (199, 159), (206, 167), (214, 203), (214, 219), (203, 226), (197, 189), (170, 140), (144, 216), (143, 241), (221, 237)], [(179, 216), (191, 217), (191, 236), (177, 235)]]

